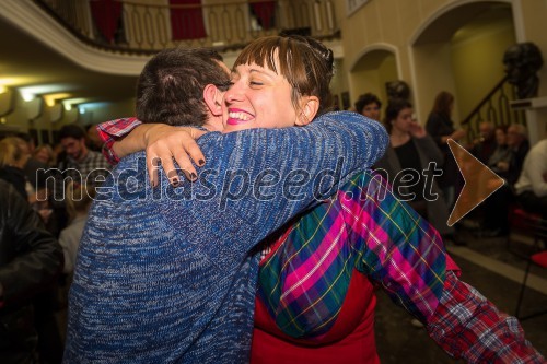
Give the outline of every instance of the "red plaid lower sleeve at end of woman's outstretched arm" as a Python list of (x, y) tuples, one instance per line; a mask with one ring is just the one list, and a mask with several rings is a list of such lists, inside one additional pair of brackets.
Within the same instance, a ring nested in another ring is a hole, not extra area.
[(524, 338), (515, 317), (508, 316), (472, 286), (446, 273), (430, 337), (451, 356), (468, 363), (547, 363)]

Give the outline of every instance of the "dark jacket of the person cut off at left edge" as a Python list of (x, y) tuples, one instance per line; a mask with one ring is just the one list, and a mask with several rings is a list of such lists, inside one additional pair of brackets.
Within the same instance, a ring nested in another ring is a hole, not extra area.
[(32, 301), (62, 271), (62, 249), (28, 202), (0, 180), (0, 363), (33, 363)]

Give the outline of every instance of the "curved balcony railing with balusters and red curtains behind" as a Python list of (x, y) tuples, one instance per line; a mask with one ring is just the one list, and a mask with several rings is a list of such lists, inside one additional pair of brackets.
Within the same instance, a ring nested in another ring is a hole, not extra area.
[(174, 46), (240, 49), (254, 38), (282, 32), (319, 39), (339, 36), (330, 0), (34, 1), (83, 42), (131, 54)]

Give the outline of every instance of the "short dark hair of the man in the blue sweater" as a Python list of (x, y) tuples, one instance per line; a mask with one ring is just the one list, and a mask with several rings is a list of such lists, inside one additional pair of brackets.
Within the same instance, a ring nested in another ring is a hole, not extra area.
[[(228, 87), (230, 75), (211, 48), (170, 48), (148, 61), (137, 83), (136, 115), (142, 122), (201, 126), (207, 121), (203, 90)], [(225, 90), (223, 90), (225, 91)]]

